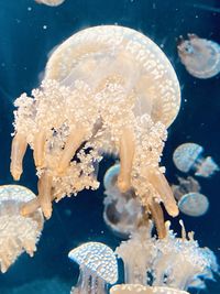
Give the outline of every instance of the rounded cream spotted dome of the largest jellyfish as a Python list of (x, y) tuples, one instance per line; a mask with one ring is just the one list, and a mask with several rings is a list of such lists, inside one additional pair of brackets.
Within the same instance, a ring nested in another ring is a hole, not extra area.
[[(176, 74), (162, 50), (129, 28), (100, 25), (79, 31), (61, 44), (48, 59), (45, 79), (63, 85), (82, 78), (95, 88), (118, 79), (135, 91), (135, 115), (169, 126), (180, 106)], [(140, 113), (141, 112), (141, 113)]]

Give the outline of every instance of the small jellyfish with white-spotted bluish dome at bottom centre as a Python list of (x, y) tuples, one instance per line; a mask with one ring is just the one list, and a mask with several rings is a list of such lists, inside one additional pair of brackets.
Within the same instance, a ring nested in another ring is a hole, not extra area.
[(72, 294), (107, 293), (107, 284), (118, 280), (118, 264), (113, 251), (99, 242), (84, 243), (73, 249), (68, 257), (80, 266), (77, 285)]

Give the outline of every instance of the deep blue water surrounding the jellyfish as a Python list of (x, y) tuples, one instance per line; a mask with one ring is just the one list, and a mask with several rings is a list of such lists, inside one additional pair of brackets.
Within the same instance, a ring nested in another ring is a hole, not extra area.
[[(9, 172), (13, 100), (38, 85), (47, 54), (55, 45), (80, 29), (99, 24), (118, 23), (146, 34), (163, 46), (177, 73), (183, 102), (164, 151), (168, 179), (174, 182), (177, 174), (172, 154), (187, 141), (201, 144), (220, 164), (220, 76), (194, 78), (180, 64), (176, 51), (176, 39), (187, 33), (220, 43), (219, 10), (220, 2), (211, 0), (66, 0), (57, 8), (33, 0), (0, 0), (0, 184), (14, 183)], [(111, 159), (103, 160), (100, 181), (112, 163)], [(24, 171), (20, 184), (36, 192), (31, 151), (25, 155)], [(200, 218), (180, 217), (187, 230), (195, 230), (199, 242), (220, 258), (220, 173), (199, 182), (210, 200), (209, 211)], [(88, 240), (112, 248), (120, 241), (103, 224), (102, 199), (101, 185), (97, 192), (82, 192), (55, 204), (34, 258), (23, 254), (6, 274), (0, 274), (0, 293), (68, 293), (78, 274), (67, 258), (68, 251)], [(174, 227), (178, 230), (177, 221)], [(46, 288), (48, 281), (51, 288)], [(208, 283), (207, 291), (199, 293), (219, 294), (220, 282)]]

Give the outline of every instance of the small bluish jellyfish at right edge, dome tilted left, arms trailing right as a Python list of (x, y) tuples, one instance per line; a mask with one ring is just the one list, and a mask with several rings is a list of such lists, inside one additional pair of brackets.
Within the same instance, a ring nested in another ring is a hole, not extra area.
[(195, 171), (195, 175), (209, 177), (219, 171), (211, 156), (202, 156), (204, 148), (196, 143), (184, 143), (173, 154), (176, 167), (183, 173)]

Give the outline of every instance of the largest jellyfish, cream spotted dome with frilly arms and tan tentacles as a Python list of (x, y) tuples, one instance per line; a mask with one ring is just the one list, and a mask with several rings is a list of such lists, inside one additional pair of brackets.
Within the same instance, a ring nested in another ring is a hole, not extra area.
[(11, 173), (22, 174), (28, 144), (37, 167), (38, 204), (50, 218), (52, 200), (97, 188), (96, 164), (105, 153), (120, 159), (118, 186), (131, 187), (145, 207), (178, 208), (158, 166), (166, 129), (180, 104), (175, 72), (160, 47), (122, 26), (82, 30), (50, 57), (38, 89), (15, 100)]

